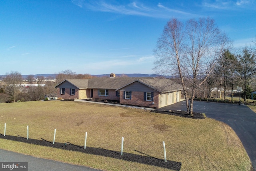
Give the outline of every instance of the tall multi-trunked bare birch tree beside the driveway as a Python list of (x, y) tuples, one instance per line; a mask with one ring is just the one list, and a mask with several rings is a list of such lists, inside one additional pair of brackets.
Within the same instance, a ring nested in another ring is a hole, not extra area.
[(219, 35), (220, 30), (209, 17), (190, 19), (186, 24), (173, 18), (158, 39), (153, 70), (164, 75), (179, 76), (189, 115), (193, 115), (196, 89), (207, 80), (216, 64)]

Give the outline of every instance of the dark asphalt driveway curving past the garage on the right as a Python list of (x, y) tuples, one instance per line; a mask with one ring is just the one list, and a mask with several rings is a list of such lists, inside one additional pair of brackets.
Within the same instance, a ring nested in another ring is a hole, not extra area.
[[(159, 110), (185, 110), (186, 102), (162, 107)], [(227, 123), (236, 132), (256, 170), (256, 113), (249, 107), (237, 104), (194, 101), (194, 112)]]

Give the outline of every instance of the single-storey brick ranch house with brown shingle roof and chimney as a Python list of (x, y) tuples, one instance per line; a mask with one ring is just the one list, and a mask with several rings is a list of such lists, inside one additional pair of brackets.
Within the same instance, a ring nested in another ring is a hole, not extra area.
[(56, 85), (62, 99), (106, 99), (120, 104), (160, 108), (180, 101), (182, 85), (152, 77), (92, 78), (64, 80)]

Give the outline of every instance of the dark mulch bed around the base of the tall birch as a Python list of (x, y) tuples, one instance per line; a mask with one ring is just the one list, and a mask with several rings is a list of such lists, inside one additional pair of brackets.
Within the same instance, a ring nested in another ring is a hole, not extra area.
[(188, 117), (188, 118), (192, 118), (192, 119), (205, 119), (206, 118), (204, 113), (193, 112), (194, 116), (190, 116), (190, 115), (188, 115), (188, 113), (186, 111), (180, 111), (180, 110), (151, 110), (151, 112), (175, 115), (175, 116), (180, 116), (180, 117)]

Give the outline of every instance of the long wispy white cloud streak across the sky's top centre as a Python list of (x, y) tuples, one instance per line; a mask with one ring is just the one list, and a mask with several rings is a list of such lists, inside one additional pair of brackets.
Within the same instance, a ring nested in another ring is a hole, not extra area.
[(124, 15), (133, 16), (147, 16), (153, 18), (170, 18), (170, 16), (176, 17), (195, 17), (198, 14), (191, 14), (185, 11), (168, 8), (163, 4), (157, 4), (156, 6), (145, 6), (142, 3), (131, 2), (129, 4), (110, 3), (104, 0), (101, 1), (84, 1), (84, 0), (72, 0), (72, 3), (80, 8), (86, 8), (93, 11), (111, 12)]

